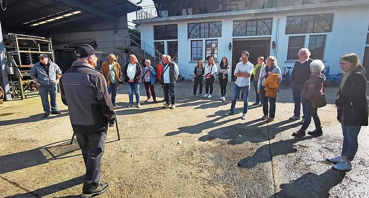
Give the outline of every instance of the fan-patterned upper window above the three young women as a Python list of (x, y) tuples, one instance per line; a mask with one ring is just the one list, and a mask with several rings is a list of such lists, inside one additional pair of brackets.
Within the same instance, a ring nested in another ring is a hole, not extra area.
[(188, 39), (216, 38), (222, 36), (222, 22), (189, 23)]

